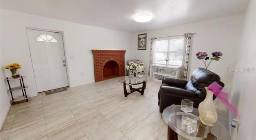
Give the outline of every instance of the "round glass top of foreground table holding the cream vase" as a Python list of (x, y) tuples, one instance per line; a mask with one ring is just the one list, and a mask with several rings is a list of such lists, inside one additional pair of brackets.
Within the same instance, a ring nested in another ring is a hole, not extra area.
[[(197, 130), (191, 134), (188, 134), (184, 130), (181, 130), (182, 115), (185, 113), (180, 110), (180, 105), (171, 105), (164, 109), (162, 117), (164, 122), (168, 124), (170, 128), (177, 134), (180, 134), (188, 140), (205, 140), (212, 133), (217, 140), (231, 140), (230, 132), (220, 122), (215, 122), (212, 127), (206, 126), (198, 120)], [(192, 114), (199, 116), (198, 109), (193, 108)]]

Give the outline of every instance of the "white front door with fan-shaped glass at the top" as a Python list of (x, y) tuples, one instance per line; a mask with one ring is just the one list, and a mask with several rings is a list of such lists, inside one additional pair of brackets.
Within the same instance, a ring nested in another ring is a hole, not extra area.
[(68, 86), (61, 33), (26, 29), (38, 92)]

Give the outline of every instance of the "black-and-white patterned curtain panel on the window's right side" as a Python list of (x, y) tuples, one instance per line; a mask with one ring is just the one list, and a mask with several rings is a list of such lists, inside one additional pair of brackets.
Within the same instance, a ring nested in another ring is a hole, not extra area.
[(182, 76), (181, 79), (187, 80), (188, 76), (188, 63), (189, 63), (189, 51), (191, 47), (193, 33), (185, 33), (185, 56), (182, 64)]

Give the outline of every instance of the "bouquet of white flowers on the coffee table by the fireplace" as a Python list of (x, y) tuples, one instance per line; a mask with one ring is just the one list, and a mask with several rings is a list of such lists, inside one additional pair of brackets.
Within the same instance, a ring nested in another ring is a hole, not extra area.
[(140, 74), (140, 75), (144, 75), (144, 63), (142, 62), (129, 62), (128, 65), (125, 66), (126, 70), (128, 72), (130, 72), (130, 74), (128, 75), (133, 75), (134, 77), (136, 77), (136, 74)]

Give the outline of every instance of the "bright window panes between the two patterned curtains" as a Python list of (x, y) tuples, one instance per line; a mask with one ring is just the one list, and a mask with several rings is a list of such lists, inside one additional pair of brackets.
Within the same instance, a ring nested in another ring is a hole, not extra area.
[(184, 37), (156, 39), (156, 64), (181, 66), (184, 55)]

